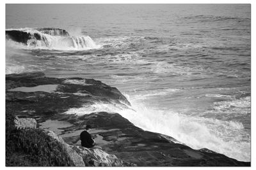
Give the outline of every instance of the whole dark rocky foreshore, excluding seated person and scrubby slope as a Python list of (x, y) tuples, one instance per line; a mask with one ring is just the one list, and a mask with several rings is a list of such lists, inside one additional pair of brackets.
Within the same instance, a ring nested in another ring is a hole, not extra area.
[[(193, 150), (170, 136), (144, 131), (118, 113), (65, 113), (93, 103), (131, 106), (118, 89), (93, 79), (49, 78), (44, 73), (6, 75), (6, 114), (26, 118), (21, 127), (33, 122), (35, 128), (36, 121), (36, 127), (71, 155), (74, 166), (250, 166), (250, 162), (207, 148)], [(76, 140), (87, 124), (92, 125), (102, 150), (83, 148)]]

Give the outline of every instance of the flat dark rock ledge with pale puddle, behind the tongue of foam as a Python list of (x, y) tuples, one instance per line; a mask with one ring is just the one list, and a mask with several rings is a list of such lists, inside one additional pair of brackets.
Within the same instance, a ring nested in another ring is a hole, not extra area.
[[(84, 104), (131, 105), (114, 87), (83, 78), (48, 78), (44, 73), (6, 75), (6, 109), (40, 122)], [(56, 117), (54, 117), (56, 116)]]

